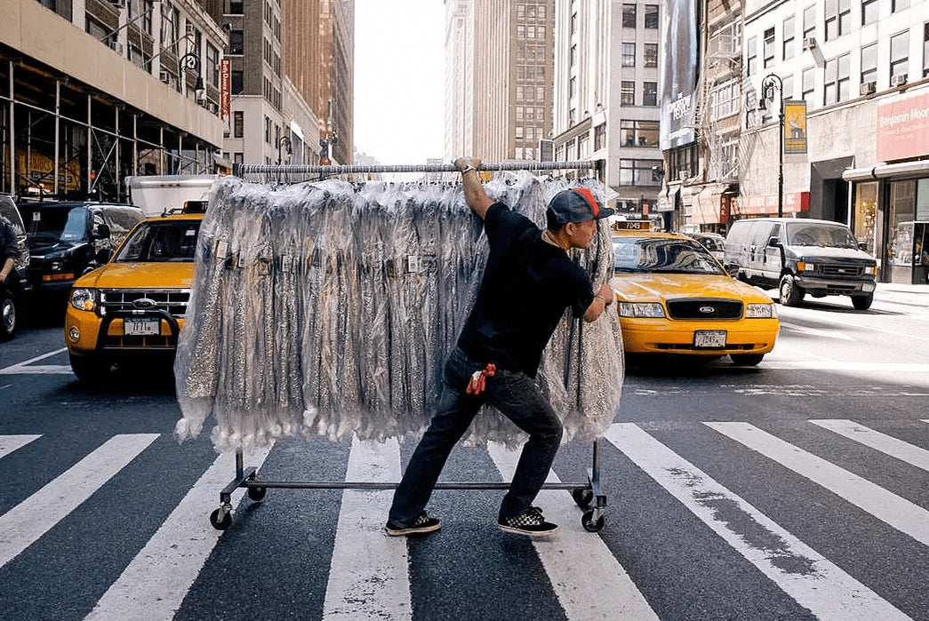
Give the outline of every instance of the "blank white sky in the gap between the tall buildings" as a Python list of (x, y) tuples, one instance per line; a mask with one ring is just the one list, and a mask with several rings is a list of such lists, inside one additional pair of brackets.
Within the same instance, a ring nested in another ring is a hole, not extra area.
[(445, 4), (355, 0), (355, 149), (382, 164), (440, 158)]

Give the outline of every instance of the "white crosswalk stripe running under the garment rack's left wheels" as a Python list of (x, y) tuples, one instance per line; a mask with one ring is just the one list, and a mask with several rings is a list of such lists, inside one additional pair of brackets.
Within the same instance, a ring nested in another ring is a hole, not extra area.
[[(245, 453), (246, 462), (260, 468), (269, 451)], [(173, 618), (222, 534), (208, 517), (234, 473), (234, 453), (216, 458), (86, 619)], [(244, 493), (242, 488), (232, 494), (233, 507)]]

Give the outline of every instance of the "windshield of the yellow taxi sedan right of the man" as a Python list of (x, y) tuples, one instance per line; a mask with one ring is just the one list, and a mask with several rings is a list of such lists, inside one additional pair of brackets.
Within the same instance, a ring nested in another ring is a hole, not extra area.
[(713, 255), (691, 239), (614, 238), (613, 250), (617, 274), (725, 274)]

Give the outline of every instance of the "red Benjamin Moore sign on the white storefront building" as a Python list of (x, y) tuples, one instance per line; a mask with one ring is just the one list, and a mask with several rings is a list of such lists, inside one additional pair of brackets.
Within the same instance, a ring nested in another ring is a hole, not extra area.
[(877, 109), (880, 162), (929, 155), (929, 93)]

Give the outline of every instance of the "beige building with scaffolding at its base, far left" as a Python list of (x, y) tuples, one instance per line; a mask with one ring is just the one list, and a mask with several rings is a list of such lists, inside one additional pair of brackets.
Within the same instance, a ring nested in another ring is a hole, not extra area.
[(124, 201), (219, 158), (214, 0), (0, 0), (0, 191)]

